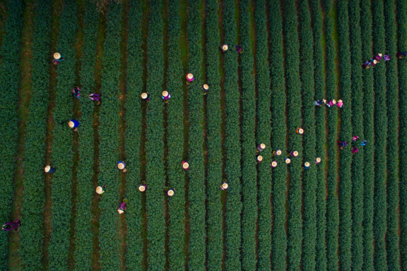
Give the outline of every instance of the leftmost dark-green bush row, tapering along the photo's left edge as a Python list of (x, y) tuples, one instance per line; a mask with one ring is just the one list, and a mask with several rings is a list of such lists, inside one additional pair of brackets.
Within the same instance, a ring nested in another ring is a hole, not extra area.
[[(0, 94), (1, 141), (0, 174), (2, 188), (0, 192), (0, 219), (8, 222), (14, 191), (14, 171), (16, 169), (18, 140), (18, 81), (20, 79), (20, 42), (23, 29), (23, 1), (8, 1), (6, 35), (1, 45)], [(6, 270), (8, 263), (8, 234), (0, 235), (0, 269)]]

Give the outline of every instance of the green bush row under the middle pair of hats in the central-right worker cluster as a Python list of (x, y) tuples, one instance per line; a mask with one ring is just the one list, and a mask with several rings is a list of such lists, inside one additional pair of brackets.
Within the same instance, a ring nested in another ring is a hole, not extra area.
[[(256, 20), (261, 15), (264, 4), (256, 6)], [(280, 1), (269, 0), (270, 13), (270, 74), (271, 74), (271, 110), (273, 116), (271, 128), (272, 150), (281, 149), (286, 152), (285, 137), (287, 126), (285, 124), (285, 78), (283, 58), (283, 18), (281, 17)], [(258, 27), (261, 27), (259, 22)], [(263, 28), (260, 28), (264, 31)], [(260, 30), (259, 29), (259, 30)], [(273, 161), (273, 159), (271, 159)], [(271, 161), (266, 164), (270, 167)], [(273, 229), (271, 242), (272, 265), (275, 270), (285, 270), (287, 256), (287, 234), (285, 232), (285, 205), (287, 191), (287, 167), (281, 160), (277, 167), (273, 168)], [(269, 251), (267, 251), (269, 253)], [(264, 255), (266, 257), (266, 255)], [(266, 266), (263, 266), (266, 268)]]

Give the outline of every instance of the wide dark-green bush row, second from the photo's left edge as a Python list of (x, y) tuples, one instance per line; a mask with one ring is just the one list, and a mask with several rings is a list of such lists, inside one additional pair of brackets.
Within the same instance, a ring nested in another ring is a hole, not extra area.
[(42, 228), (45, 191), (44, 162), (47, 109), (49, 102), (49, 46), (51, 44), (52, 1), (40, 1), (35, 8), (33, 34), (33, 76), (31, 91), (36, 93), (28, 107), (25, 128), (24, 196), (21, 205), (20, 254), (23, 270), (42, 270)]

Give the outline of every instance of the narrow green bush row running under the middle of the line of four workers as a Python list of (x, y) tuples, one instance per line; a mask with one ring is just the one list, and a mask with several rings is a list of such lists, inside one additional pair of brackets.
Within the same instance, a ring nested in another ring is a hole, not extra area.
[[(324, 0), (326, 38), (326, 100), (336, 100), (336, 49), (334, 41), (334, 5)], [(328, 110), (328, 176), (326, 178), (326, 258), (328, 270), (338, 269), (338, 195), (337, 152), (338, 110)], [(346, 140), (346, 138), (343, 138)]]

